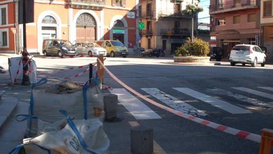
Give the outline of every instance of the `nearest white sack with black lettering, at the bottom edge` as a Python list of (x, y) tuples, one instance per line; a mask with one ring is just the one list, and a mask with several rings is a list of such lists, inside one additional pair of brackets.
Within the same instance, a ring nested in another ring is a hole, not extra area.
[[(47, 153), (36, 145), (50, 150), (53, 154), (90, 154), (81, 144), (74, 130), (65, 122), (66, 120), (61, 120), (55, 124), (49, 124), (38, 120), (38, 133), (42, 134), (35, 138), (23, 140), (26, 154)], [(99, 119), (73, 120), (73, 122), (86, 143), (87, 149), (92, 149), (97, 154), (109, 153), (110, 140)], [(60, 130), (64, 123), (66, 124), (65, 127)], [(45, 130), (49, 132), (45, 132)]]

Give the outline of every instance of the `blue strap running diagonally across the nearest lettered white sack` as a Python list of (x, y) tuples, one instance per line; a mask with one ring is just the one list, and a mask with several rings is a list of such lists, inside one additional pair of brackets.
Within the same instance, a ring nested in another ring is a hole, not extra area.
[(87, 149), (87, 145), (86, 143), (84, 142), (84, 139), (83, 137), (81, 136), (80, 132), (78, 131), (77, 127), (75, 126), (74, 122), (72, 121), (72, 119), (68, 116), (67, 114), (67, 111), (66, 110), (60, 110), (60, 113), (61, 114), (64, 114), (66, 116), (66, 119), (67, 119), (67, 123), (69, 124), (69, 126), (72, 128), (72, 130), (74, 131), (74, 133), (77, 135), (78, 139), (79, 139), (79, 142), (81, 143), (81, 145), (83, 146), (83, 148), (92, 153), (92, 154), (98, 154), (96, 152), (94, 152), (92, 149)]

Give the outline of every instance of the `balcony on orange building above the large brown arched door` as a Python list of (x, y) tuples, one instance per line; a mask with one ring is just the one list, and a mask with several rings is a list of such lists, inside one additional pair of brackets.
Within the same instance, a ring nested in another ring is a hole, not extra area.
[(72, 8), (102, 10), (106, 6), (106, 0), (68, 0)]

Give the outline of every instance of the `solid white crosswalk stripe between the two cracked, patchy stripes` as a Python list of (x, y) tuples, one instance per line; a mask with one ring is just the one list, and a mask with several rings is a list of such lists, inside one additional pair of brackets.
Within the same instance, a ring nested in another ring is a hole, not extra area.
[(203, 93), (200, 93), (198, 91), (194, 91), (190, 88), (173, 88), (177, 91), (180, 91), (186, 95), (189, 95), (191, 97), (194, 97), (196, 99), (199, 99), (199, 100), (202, 100), (208, 104), (211, 104), (215, 107), (218, 107), (222, 110), (225, 110), (229, 113), (232, 113), (232, 114), (246, 114), (246, 113), (252, 113), (248, 110), (245, 110), (245, 109), (242, 109), (238, 106), (235, 106), (235, 105), (232, 105), (226, 101), (223, 101), (223, 100), (219, 100), (217, 98), (214, 98), (214, 97), (211, 97), (211, 96), (208, 96), (208, 95), (205, 95)]

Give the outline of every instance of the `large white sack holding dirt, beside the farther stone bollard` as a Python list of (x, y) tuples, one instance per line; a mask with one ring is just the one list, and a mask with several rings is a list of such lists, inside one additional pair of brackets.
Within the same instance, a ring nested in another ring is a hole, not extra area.
[[(59, 110), (66, 110), (74, 119), (99, 118), (103, 120), (103, 95), (96, 86), (88, 88), (83, 87), (83, 91), (70, 94), (51, 94), (40, 89), (34, 88), (47, 82), (46, 78), (41, 79), (34, 84), (30, 98), (29, 114), (48, 123), (54, 123), (63, 119)], [(84, 99), (85, 98), (85, 99)], [(33, 137), (37, 135), (37, 120), (28, 120), (26, 136)]]

